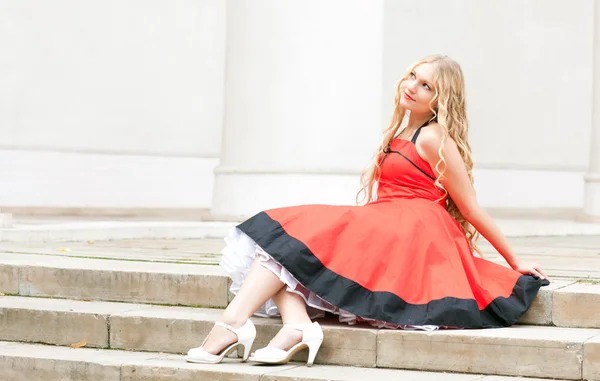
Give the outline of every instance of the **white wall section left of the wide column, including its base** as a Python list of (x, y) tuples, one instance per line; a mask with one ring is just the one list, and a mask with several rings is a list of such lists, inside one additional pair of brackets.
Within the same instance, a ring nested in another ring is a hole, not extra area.
[(0, 205), (210, 206), (224, 1), (2, 1), (0, 46)]

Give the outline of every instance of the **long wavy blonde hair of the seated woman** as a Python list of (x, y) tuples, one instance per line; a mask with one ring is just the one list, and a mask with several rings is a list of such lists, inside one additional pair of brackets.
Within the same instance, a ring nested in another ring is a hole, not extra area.
[[(467, 169), (471, 184), (473, 184), (473, 160), (471, 158), (471, 147), (469, 146), (468, 142), (468, 122), (465, 103), (464, 77), (462, 69), (458, 63), (447, 56), (434, 55), (423, 58), (422, 60), (410, 66), (404, 77), (398, 82), (396, 86), (396, 96), (394, 97), (395, 108), (392, 115), (392, 120), (389, 127), (383, 133), (381, 145), (379, 146), (377, 154), (375, 155), (372, 163), (361, 175), (362, 187), (356, 196), (356, 201), (360, 204), (361, 201), (369, 203), (375, 199), (374, 188), (379, 180), (380, 163), (384, 155), (384, 148), (387, 147), (391, 140), (399, 133), (398, 131), (403, 124), (407, 111), (400, 106), (402, 82), (409, 77), (410, 73), (415, 67), (424, 63), (430, 63), (433, 65), (433, 85), (435, 87), (435, 96), (429, 103), (429, 108), (432, 112), (431, 120), (437, 120), (437, 123), (446, 132), (442, 134), (442, 141), (438, 151), (440, 160), (435, 165), (435, 169), (439, 173), (439, 176), (435, 180), (435, 186), (444, 192), (444, 196), (442, 199), (440, 199), (440, 201), (447, 197), (446, 210), (463, 228), (471, 250), (476, 251), (481, 255), (481, 250), (477, 247), (479, 233), (463, 217), (454, 201), (448, 195), (446, 189), (444, 189), (440, 183), (440, 178), (443, 177), (446, 168), (446, 160), (444, 159), (444, 145), (449, 136), (456, 142), (458, 152), (465, 163), (465, 168)], [(402, 130), (400, 130), (400, 132), (402, 132)]]

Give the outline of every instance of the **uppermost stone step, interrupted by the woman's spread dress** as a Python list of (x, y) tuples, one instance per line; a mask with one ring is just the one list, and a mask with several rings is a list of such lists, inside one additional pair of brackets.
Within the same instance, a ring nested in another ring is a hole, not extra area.
[[(10, 295), (224, 307), (229, 285), (214, 265), (0, 253), (0, 292)], [(600, 283), (554, 280), (520, 323), (600, 328)]]

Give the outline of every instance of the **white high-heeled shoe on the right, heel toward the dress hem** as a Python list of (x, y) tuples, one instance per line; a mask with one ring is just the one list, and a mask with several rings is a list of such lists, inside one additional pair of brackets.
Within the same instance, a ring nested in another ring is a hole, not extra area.
[(308, 348), (308, 361), (306, 365), (311, 366), (323, 343), (323, 330), (321, 326), (317, 322), (312, 324), (286, 324), (285, 326), (302, 331), (302, 341), (291, 347), (288, 351), (269, 346), (261, 348), (254, 352), (254, 356), (250, 361), (263, 364), (286, 364), (296, 352)]

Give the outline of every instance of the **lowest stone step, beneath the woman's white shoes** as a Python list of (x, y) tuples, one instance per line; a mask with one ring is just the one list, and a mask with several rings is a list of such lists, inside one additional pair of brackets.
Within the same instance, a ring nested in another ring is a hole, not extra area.
[(540, 381), (350, 366), (307, 367), (297, 363), (270, 367), (232, 359), (221, 364), (203, 365), (186, 363), (183, 356), (162, 353), (71, 349), (11, 342), (0, 342), (0, 373), (3, 381)]

